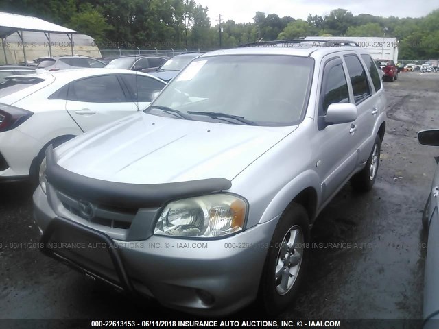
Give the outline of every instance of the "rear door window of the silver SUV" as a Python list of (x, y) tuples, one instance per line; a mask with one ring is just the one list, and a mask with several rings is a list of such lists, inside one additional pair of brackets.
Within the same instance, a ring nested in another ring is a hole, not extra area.
[(369, 95), (372, 95), (370, 92), (368, 79), (366, 77), (366, 72), (359, 62), (359, 58), (355, 55), (347, 55), (344, 56), (344, 60), (346, 61), (346, 66), (348, 67), (349, 77), (351, 77), (351, 84), (354, 93), (355, 104), (361, 103), (364, 101)]

